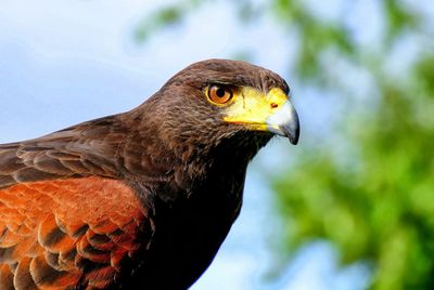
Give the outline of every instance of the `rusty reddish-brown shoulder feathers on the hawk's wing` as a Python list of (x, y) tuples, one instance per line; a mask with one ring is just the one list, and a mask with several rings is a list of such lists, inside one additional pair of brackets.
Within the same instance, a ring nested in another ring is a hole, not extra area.
[(146, 212), (122, 181), (98, 176), (0, 190), (0, 289), (112, 285), (135, 259)]

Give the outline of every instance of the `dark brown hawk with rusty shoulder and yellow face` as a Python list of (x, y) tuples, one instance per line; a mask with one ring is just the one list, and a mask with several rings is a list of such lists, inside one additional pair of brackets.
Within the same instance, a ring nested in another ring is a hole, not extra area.
[(247, 164), (298, 142), (285, 80), (206, 60), (131, 110), (0, 145), (0, 289), (188, 289), (238, 217)]

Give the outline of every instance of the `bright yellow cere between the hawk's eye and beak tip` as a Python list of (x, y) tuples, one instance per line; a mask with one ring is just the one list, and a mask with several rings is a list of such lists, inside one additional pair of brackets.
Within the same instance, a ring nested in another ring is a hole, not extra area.
[(242, 88), (233, 98), (227, 107), (225, 121), (243, 123), (260, 131), (267, 131), (267, 119), (289, 100), (279, 88), (271, 89), (267, 94), (253, 88)]

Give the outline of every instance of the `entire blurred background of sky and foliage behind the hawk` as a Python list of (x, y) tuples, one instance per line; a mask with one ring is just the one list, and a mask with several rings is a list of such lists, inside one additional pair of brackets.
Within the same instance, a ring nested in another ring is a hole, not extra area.
[(298, 146), (250, 167), (200, 289), (434, 289), (434, 4), (0, 0), (0, 142), (139, 105), (187, 65), (290, 83)]

